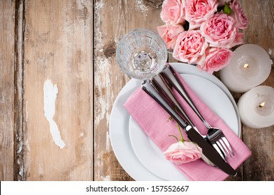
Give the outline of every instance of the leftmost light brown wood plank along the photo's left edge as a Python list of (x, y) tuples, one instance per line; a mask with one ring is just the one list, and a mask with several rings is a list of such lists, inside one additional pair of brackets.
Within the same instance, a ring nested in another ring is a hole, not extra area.
[(0, 180), (13, 180), (15, 1), (0, 1)]

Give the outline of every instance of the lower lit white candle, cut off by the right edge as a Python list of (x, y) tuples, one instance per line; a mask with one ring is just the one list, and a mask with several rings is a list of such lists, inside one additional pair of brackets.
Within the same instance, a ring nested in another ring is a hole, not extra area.
[(238, 100), (241, 122), (251, 128), (274, 125), (274, 88), (257, 86)]

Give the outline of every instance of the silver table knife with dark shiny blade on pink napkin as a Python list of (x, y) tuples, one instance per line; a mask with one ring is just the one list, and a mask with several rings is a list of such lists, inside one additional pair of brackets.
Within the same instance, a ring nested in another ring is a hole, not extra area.
[(237, 172), (224, 161), (224, 159), (217, 153), (217, 150), (213, 148), (210, 143), (208, 143), (199, 132), (197, 132), (191, 125), (189, 125), (185, 120), (174, 111), (174, 109), (164, 100), (164, 98), (161, 98), (161, 95), (159, 95), (159, 91), (157, 91), (157, 88), (155, 88), (154, 84), (151, 80), (145, 80), (142, 84), (142, 89), (150, 95), (151, 98), (153, 98), (163, 109), (165, 109), (168, 114), (172, 116), (172, 118), (182, 127), (183, 130), (187, 133), (187, 137), (193, 141), (194, 143), (197, 143), (198, 146), (200, 146), (203, 150), (203, 155), (205, 155), (210, 162), (215, 164), (219, 169), (224, 171), (224, 173), (236, 176)]

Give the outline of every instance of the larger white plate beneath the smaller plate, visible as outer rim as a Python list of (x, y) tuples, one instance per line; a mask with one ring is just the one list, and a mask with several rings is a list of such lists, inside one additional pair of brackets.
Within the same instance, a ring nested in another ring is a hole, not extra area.
[[(185, 65), (184, 63), (171, 63), (173, 68), (179, 73), (185, 73), (189, 75), (199, 75), (212, 81), (214, 84), (219, 86), (224, 93), (231, 100), (234, 109), (236, 110), (238, 118), (238, 135), (240, 134), (240, 116), (238, 114), (238, 108), (236, 102), (233, 100), (233, 96), (229, 90), (222, 84), (217, 77), (209, 75), (207, 72), (201, 72), (196, 67), (192, 65)], [(140, 87), (142, 81), (137, 79), (131, 79), (120, 91), (115, 103), (113, 104), (113, 109), (110, 114), (110, 141), (113, 147), (113, 151), (117, 160), (120, 162), (122, 168), (127, 171), (131, 178), (134, 180), (163, 180), (158, 176), (154, 175), (149, 171), (143, 164), (139, 161), (138, 157), (134, 153), (129, 139), (129, 113), (124, 108), (124, 103), (127, 98)]]

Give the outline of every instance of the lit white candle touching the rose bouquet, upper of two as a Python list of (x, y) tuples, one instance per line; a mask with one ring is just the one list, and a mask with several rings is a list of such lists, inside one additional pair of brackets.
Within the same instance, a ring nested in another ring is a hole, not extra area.
[(272, 61), (258, 45), (242, 45), (231, 56), (229, 65), (220, 70), (220, 79), (230, 91), (243, 93), (264, 82), (271, 73)]

